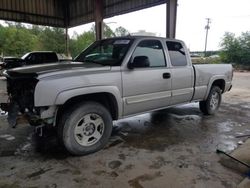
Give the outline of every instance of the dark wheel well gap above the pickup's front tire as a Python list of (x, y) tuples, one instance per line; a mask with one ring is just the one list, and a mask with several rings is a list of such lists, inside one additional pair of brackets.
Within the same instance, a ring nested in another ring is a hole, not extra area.
[(102, 104), (110, 112), (113, 120), (118, 119), (118, 104), (115, 96), (110, 93), (93, 93), (73, 97), (61, 105), (57, 111), (56, 122), (66, 109), (82, 101), (95, 101)]

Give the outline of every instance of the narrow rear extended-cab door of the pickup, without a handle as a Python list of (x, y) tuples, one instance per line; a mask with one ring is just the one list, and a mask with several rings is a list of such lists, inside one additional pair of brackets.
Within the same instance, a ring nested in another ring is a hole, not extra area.
[(181, 104), (192, 99), (194, 91), (194, 70), (189, 53), (183, 43), (166, 41), (171, 62), (172, 99), (170, 104)]

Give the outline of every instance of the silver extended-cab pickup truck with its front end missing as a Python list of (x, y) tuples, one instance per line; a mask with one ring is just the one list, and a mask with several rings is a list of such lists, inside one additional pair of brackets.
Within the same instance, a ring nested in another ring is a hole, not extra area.
[(74, 62), (4, 74), (10, 125), (22, 113), (31, 125), (54, 126), (74, 155), (103, 148), (113, 120), (190, 102), (214, 114), (233, 77), (230, 64), (192, 65), (182, 41), (139, 36), (96, 41)]

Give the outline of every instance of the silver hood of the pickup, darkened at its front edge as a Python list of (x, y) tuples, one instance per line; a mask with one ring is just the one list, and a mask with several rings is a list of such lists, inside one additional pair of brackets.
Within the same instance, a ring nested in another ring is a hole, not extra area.
[(9, 77), (46, 77), (78, 71), (98, 70), (110, 70), (110, 66), (103, 66), (96, 63), (59, 62), (14, 68), (6, 71), (5, 75)]

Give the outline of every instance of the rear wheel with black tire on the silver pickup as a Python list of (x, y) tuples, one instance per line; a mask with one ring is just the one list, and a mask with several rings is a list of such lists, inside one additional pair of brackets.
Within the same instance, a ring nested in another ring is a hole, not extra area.
[[(216, 104), (213, 103), (213, 96), (218, 96), (218, 101)], [(218, 86), (212, 86), (209, 95), (207, 97), (207, 100), (200, 101), (200, 110), (205, 115), (213, 115), (217, 112), (221, 104), (221, 89)]]

